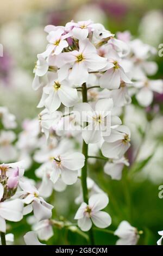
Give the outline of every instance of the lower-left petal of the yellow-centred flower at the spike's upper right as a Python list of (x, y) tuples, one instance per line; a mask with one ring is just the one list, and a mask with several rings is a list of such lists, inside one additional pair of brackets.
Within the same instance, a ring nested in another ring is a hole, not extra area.
[(118, 69), (109, 69), (99, 78), (101, 88), (118, 89), (120, 87), (120, 71)]

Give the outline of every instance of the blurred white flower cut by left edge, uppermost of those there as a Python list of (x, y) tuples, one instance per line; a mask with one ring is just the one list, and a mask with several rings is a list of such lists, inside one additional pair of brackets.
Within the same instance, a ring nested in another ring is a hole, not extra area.
[(0, 119), (2, 118), (2, 124), (6, 129), (14, 129), (17, 124), (15, 121), (15, 115), (9, 113), (7, 107), (0, 107)]

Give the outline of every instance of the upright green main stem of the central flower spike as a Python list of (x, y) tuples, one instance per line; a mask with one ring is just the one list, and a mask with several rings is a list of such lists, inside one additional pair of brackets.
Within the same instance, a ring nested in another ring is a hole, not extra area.
[[(82, 85), (82, 96), (83, 96), (83, 102), (87, 102), (87, 88), (86, 83), (83, 83)], [(87, 153), (88, 153), (88, 145), (83, 140), (83, 147), (82, 147), (82, 153), (85, 156), (85, 164), (82, 168), (82, 175), (81, 175), (81, 181), (82, 181), (82, 190), (83, 190), (83, 200), (86, 204), (88, 204), (88, 190), (87, 190)], [(90, 237), (90, 243), (91, 245), (94, 245), (94, 238), (93, 238), (93, 230), (91, 229), (89, 231), (89, 237)]]

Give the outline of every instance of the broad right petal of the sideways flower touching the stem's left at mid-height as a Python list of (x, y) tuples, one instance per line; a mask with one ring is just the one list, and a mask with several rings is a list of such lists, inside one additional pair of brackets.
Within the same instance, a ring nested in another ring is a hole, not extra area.
[(78, 170), (84, 166), (85, 156), (82, 153), (62, 154), (61, 165), (70, 170)]

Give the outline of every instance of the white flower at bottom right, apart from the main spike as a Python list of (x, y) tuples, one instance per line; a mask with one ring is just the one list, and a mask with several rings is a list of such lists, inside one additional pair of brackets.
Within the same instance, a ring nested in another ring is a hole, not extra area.
[(137, 229), (132, 227), (127, 221), (122, 221), (114, 234), (120, 237), (116, 245), (136, 245), (139, 240)]

